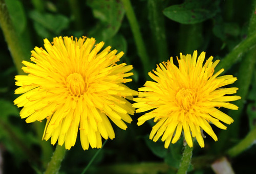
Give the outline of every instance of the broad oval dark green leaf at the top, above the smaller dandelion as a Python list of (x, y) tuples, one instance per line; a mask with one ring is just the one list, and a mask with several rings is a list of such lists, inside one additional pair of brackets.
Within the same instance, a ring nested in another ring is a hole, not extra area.
[(194, 24), (215, 16), (219, 10), (220, 1), (187, 0), (181, 5), (173, 5), (163, 10), (169, 19), (183, 23)]

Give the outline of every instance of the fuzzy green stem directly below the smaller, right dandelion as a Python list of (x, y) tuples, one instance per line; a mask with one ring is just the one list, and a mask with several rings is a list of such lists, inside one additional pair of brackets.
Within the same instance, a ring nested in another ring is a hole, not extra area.
[(183, 151), (183, 155), (181, 158), (180, 166), (178, 169), (177, 174), (185, 174), (187, 173), (187, 169), (191, 162), (191, 157), (193, 152), (193, 147), (189, 147), (188, 145), (185, 146), (185, 149)]

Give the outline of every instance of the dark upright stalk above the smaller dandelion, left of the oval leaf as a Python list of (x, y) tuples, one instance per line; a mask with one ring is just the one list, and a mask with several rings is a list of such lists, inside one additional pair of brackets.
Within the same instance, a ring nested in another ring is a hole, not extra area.
[(148, 18), (157, 47), (158, 62), (167, 61), (169, 57), (165, 36), (164, 15), (162, 13), (163, 9), (161, 8), (162, 0), (148, 0), (147, 7)]

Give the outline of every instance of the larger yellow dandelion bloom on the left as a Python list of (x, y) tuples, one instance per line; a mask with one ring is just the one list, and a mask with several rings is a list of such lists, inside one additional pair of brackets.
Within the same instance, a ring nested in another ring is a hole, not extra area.
[[(113, 139), (115, 133), (109, 118), (121, 129), (131, 122), (132, 100), (137, 92), (123, 83), (132, 79), (132, 65), (116, 64), (123, 52), (110, 52), (104, 42), (95, 45), (94, 38), (55, 37), (44, 40), (45, 49), (35, 47), (30, 63), (22, 69), (27, 76), (16, 76), (20, 86), (14, 101), (23, 107), (20, 117), (26, 122), (47, 119), (42, 139), (70, 149), (76, 142), (78, 129), (82, 148), (101, 147), (101, 137)], [(95, 45), (95, 47), (94, 47)]]

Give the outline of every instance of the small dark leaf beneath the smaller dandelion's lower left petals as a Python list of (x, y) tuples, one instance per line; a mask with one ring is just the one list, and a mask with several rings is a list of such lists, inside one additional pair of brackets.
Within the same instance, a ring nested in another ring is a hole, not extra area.
[(155, 154), (160, 158), (164, 158), (167, 155), (168, 150), (164, 148), (164, 142), (162, 141), (154, 142), (148, 138), (148, 135), (146, 135), (144, 139), (145, 139), (146, 145), (150, 148), (153, 154)]

